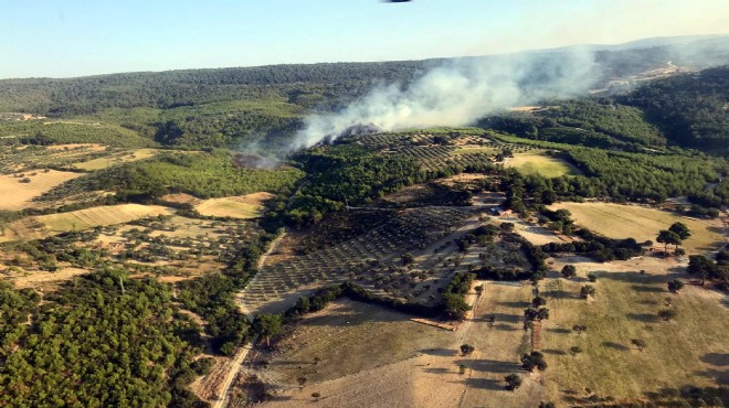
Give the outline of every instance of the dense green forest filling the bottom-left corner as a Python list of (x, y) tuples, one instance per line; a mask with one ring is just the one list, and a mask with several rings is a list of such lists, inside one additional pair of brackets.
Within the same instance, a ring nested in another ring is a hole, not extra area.
[(204, 406), (186, 388), (205, 369), (194, 359), (200, 328), (168, 287), (106, 270), (67, 282), (43, 305), (4, 281), (0, 294), (0, 405)]

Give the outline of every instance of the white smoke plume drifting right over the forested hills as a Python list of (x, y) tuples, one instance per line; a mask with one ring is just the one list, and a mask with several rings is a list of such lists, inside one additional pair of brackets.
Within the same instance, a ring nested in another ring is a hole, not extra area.
[(452, 60), (408, 87), (381, 85), (340, 111), (308, 117), (292, 150), (334, 140), (356, 126), (388, 131), (472, 125), (509, 106), (584, 93), (596, 78), (594, 54), (587, 50)]

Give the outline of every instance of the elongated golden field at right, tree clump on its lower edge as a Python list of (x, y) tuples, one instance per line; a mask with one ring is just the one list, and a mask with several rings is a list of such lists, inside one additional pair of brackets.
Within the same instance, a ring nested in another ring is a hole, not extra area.
[[(689, 219), (661, 210), (611, 203), (559, 203), (551, 208), (569, 210), (578, 225), (595, 233), (611, 238), (632, 237), (638, 243), (645, 240), (655, 243), (658, 230), (682, 222), (691, 230), (691, 236), (683, 245), (689, 254), (714, 250), (726, 243), (719, 219)], [(655, 245), (662, 246), (657, 243)]]

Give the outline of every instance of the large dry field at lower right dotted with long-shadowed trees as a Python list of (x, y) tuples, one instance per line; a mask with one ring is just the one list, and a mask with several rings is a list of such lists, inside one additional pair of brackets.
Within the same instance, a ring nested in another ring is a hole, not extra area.
[[(725, 294), (688, 284), (670, 294), (666, 282), (687, 276), (678, 264), (662, 258), (610, 264), (566, 258), (554, 267), (568, 262), (577, 266), (577, 278), (540, 283), (550, 309), (541, 332), (549, 363), (545, 399), (572, 405), (583, 401), (590, 389), (601, 397), (635, 401), (665, 388), (729, 382)], [(585, 301), (578, 293), (590, 272), (599, 276), (590, 283), (596, 293)], [(665, 309), (677, 311), (677, 318), (658, 319), (657, 312)], [(571, 330), (574, 324), (588, 330), (577, 334)], [(634, 339), (646, 342), (643, 352), (632, 344)], [(572, 346), (582, 353), (571, 355)]]

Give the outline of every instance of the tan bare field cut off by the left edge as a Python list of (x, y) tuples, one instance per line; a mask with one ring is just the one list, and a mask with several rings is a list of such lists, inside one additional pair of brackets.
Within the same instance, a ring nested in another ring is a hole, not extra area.
[[(83, 174), (55, 170), (33, 170), (0, 175), (0, 210), (20, 211), (33, 207), (32, 200), (51, 189)], [(22, 183), (28, 179), (30, 182)]]

